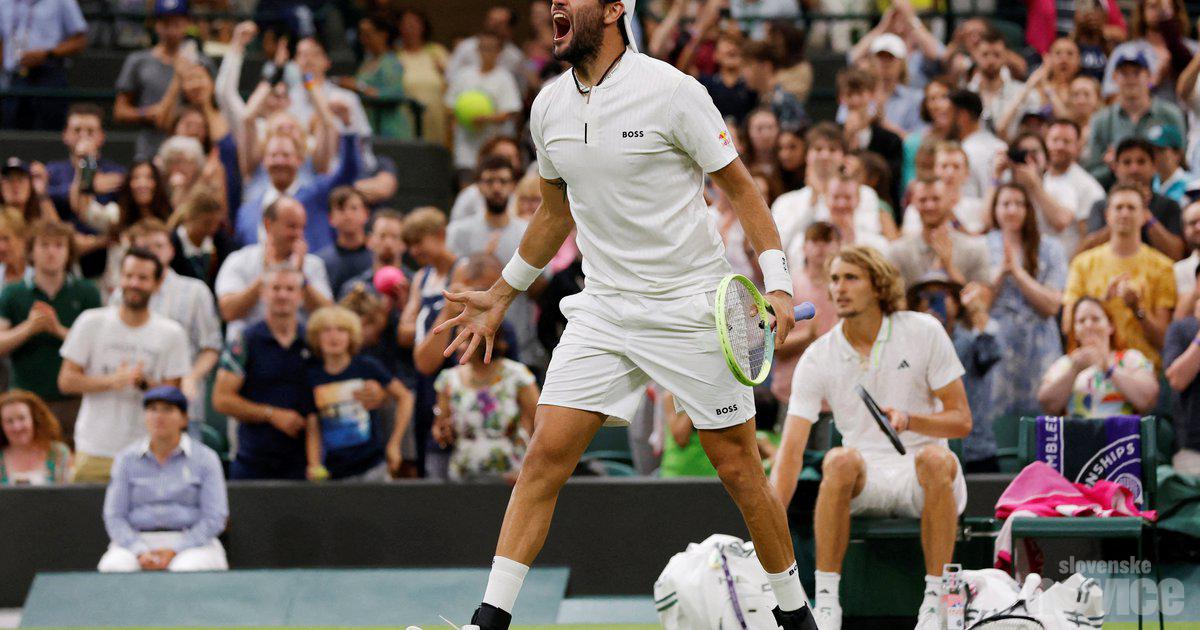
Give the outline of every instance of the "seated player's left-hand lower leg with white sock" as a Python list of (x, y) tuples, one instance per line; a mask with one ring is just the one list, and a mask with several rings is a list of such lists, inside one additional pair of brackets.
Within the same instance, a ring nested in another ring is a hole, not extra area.
[(841, 628), (838, 584), (850, 546), (850, 500), (866, 486), (866, 462), (856, 449), (839, 446), (821, 464), (814, 530), (816, 534), (816, 618), (821, 630)]

